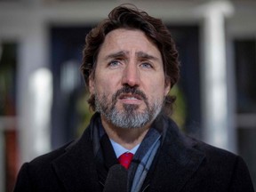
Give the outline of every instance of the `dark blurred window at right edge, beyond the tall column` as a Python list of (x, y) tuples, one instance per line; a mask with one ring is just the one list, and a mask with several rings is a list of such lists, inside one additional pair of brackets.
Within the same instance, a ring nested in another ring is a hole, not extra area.
[(238, 153), (256, 186), (256, 39), (235, 41), (236, 123)]

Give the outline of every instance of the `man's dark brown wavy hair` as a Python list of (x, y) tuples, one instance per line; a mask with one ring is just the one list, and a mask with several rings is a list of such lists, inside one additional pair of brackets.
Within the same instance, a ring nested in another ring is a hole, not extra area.
[[(170, 81), (171, 86), (177, 83), (180, 77), (179, 54), (168, 28), (164, 26), (162, 20), (149, 16), (147, 12), (140, 11), (136, 6), (123, 4), (113, 9), (108, 14), (108, 19), (101, 21), (96, 28), (92, 28), (85, 38), (81, 70), (87, 87), (89, 76), (92, 79), (94, 78), (96, 60), (101, 44), (104, 43), (108, 33), (117, 28), (139, 29), (143, 31), (148, 39), (153, 44), (156, 44), (162, 54), (165, 82)], [(172, 103), (175, 99), (175, 96), (167, 95), (165, 97), (165, 113), (172, 113)], [(92, 110), (95, 110), (94, 95), (91, 96), (88, 103)]]

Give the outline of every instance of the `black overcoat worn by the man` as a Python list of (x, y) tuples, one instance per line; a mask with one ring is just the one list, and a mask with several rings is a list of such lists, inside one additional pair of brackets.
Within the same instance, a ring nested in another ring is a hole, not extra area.
[[(240, 156), (185, 136), (168, 117), (162, 116), (159, 124), (166, 126), (167, 132), (141, 191), (254, 191)], [(92, 128), (89, 126), (80, 139), (23, 164), (14, 192), (100, 192), (104, 183), (94, 161)], [(110, 186), (108, 191), (122, 192)]]

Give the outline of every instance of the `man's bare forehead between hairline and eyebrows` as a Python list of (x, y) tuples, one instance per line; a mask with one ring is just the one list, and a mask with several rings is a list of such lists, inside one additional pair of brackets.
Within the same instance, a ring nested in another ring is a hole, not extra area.
[(147, 52), (162, 59), (156, 44), (153, 44), (144, 32), (137, 29), (118, 28), (109, 32), (101, 44), (98, 56), (117, 51)]

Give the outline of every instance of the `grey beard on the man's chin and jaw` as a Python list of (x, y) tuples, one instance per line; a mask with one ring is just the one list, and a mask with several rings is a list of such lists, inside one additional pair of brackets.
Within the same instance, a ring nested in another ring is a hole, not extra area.
[(160, 113), (163, 103), (155, 101), (152, 106), (149, 106), (145, 100), (147, 108), (142, 112), (138, 111), (138, 105), (124, 104), (124, 110), (116, 109), (116, 100), (109, 102), (108, 97), (103, 95), (101, 98), (95, 95), (96, 111), (105, 116), (108, 122), (116, 127), (124, 129), (140, 128), (152, 122)]

